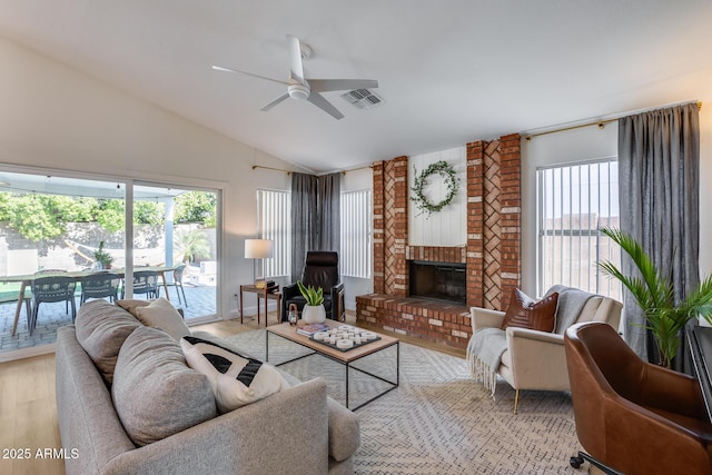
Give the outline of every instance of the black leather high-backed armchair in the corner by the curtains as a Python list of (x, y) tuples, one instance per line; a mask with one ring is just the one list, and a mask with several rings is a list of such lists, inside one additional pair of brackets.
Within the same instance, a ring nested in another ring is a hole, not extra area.
[[(307, 251), (307, 260), (301, 273), (301, 283), (305, 286), (322, 287), (324, 289), (324, 309), (326, 318), (344, 321), (345, 297), (344, 284), (338, 275), (338, 253), (310, 250)], [(281, 289), (281, 321), (287, 321), (287, 309), (290, 304), (296, 304), (299, 311), (306, 305), (296, 284)]]

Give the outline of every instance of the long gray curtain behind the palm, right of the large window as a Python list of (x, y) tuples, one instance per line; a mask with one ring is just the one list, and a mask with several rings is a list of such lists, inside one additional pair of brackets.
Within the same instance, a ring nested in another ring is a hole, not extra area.
[[(619, 120), (621, 229), (630, 232), (663, 273), (680, 301), (700, 281), (699, 273), (700, 121), (696, 103), (660, 109)], [(632, 275), (630, 259), (622, 270)], [(643, 358), (656, 348), (633, 297), (624, 296), (624, 338)], [(686, 343), (680, 346), (686, 354)], [(675, 369), (690, 372), (686, 358)]]

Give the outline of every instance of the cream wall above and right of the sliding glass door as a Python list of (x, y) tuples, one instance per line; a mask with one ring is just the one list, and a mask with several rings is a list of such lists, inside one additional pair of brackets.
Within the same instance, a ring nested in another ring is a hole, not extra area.
[(220, 301), (253, 279), (244, 239), (256, 232), (256, 188), (288, 189), (291, 168), (245, 144), (0, 38), (0, 164), (224, 190)]

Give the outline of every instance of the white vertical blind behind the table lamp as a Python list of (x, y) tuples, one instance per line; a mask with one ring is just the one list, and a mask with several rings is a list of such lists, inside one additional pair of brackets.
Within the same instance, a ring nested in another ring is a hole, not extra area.
[(265, 277), (290, 275), (291, 192), (257, 190), (257, 226), (261, 239), (274, 241), (274, 257), (265, 259)]

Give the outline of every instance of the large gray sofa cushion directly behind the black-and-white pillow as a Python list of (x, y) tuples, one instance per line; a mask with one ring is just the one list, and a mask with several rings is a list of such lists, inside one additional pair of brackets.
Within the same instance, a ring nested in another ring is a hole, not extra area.
[(208, 379), (186, 364), (180, 346), (157, 328), (137, 328), (123, 343), (111, 396), (126, 433), (138, 446), (217, 415)]

